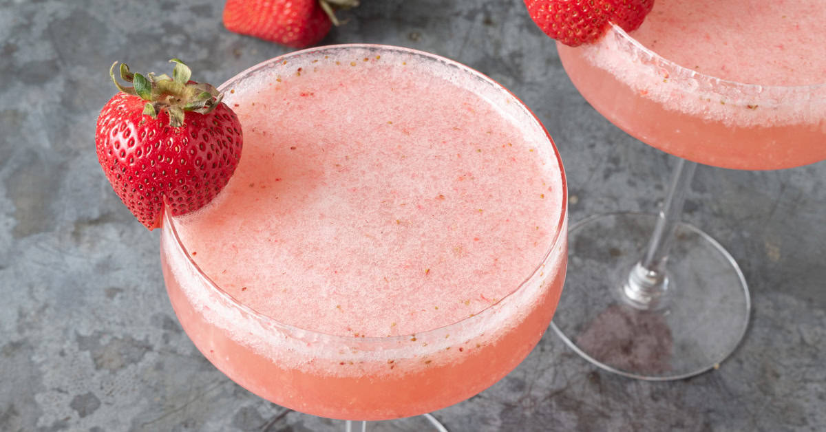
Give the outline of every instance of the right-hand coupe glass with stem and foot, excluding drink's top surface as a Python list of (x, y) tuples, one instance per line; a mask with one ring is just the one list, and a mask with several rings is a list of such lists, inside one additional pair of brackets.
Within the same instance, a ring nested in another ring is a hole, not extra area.
[(743, 338), (750, 301), (732, 256), (680, 221), (696, 165), (785, 169), (826, 158), (826, 86), (699, 74), (618, 26), (596, 44), (557, 47), (596, 111), (680, 159), (657, 215), (610, 214), (572, 225), (573, 288), (553, 327), (591, 363), (625, 376), (667, 380), (717, 368)]

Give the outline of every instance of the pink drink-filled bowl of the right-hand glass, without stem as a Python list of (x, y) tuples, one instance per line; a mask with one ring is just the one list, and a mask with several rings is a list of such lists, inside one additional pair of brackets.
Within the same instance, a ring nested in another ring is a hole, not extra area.
[(826, 159), (826, 3), (657, 0), (631, 35), (558, 45), (574, 85), (683, 159), (786, 169)]

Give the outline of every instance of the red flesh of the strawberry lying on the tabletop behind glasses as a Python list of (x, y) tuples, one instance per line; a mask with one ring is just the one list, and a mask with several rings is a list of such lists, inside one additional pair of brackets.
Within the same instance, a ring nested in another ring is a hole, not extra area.
[(227, 0), (223, 20), (229, 31), (292, 48), (316, 45), (332, 26), (318, 0)]

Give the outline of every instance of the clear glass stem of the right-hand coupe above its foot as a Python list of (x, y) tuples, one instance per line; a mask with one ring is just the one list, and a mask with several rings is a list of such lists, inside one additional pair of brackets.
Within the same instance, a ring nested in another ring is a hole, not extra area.
[(668, 290), (666, 262), (674, 242), (674, 231), (680, 223), (686, 194), (697, 168), (695, 162), (680, 159), (672, 174), (671, 185), (662, 209), (657, 217), (651, 240), (648, 241), (643, 259), (634, 264), (623, 286), (624, 300), (643, 310), (663, 306)]

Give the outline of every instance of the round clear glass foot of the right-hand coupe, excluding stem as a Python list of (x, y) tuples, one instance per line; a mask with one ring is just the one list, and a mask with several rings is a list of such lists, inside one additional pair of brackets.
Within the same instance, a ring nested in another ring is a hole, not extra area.
[(743, 339), (751, 301), (731, 255), (681, 223), (667, 261), (667, 292), (657, 307), (635, 306), (624, 282), (656, 222), (654, 215), (617, 213), (572, 225), (565, 291), (551, 326), (600, 368), (663, 381), (718, 368)]

